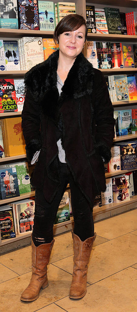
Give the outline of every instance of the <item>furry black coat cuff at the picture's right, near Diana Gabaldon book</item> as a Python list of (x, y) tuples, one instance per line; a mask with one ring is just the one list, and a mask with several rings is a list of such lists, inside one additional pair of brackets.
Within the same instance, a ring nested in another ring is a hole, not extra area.
[(95, 144), (95, 150), (101, 157), (104, 158), (104, 163), (109, 163), (110, 159), (112, 158), (111, 150), (109, 146), (103, 142), (99, 142)]

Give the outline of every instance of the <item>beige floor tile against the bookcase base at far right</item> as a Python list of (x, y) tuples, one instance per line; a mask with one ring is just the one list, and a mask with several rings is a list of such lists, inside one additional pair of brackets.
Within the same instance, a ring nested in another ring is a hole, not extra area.
[(137, 210), (128, 211), (94, 225), (97, 235), (112, 239), (137, 229)]

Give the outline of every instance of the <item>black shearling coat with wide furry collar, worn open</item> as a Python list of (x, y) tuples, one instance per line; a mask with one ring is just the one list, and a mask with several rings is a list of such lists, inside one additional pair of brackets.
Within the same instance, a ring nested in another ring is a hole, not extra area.
[(76, 57), (59, 96), (58, 57), (56, 51), (25, 74), (22, 128), (28, 160), (41, 149), (31, 183), (43, 188), (45, 199), (52, 202), (61, 183), (59, 130), (75, 183), (93, 205), (94, 197), (106, 190), (101, 156), (105, 163), (111, 159), (113, 106), (103, 74), (82, 53)]

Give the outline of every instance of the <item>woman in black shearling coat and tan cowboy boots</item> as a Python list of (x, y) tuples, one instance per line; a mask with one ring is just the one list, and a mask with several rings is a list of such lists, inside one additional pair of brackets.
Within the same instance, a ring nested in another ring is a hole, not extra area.
[[(25, 75), (22, 128), (28, 160), (38, 157), (32, 233), (32, 278), (21, 300), (48, 286), (53, 223), (69, 183), (74, 216), (74, 269), (70, 298), (86, 294), (87, 264), (96, 237), (94, 198), (106, 190), (103, 159), (111, 159), (113, 107), (105, 79), (81, 53), (87, 38), (82, 16), (64, 17), (54, 32), (59, 50)], [(40, 131), (39, 131), (40, 128)], [(39, 153), (40, 151), (40, 153)]]

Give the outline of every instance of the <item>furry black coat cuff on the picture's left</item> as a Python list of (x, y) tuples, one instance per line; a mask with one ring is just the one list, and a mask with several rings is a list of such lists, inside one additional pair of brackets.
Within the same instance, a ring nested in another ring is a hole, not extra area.
[(25, 149), (27, 159), (31, 161), (35, 152), (41, 149), (41, 142), (38, 139), (32, 139), (29, 144), (26, 145)]

